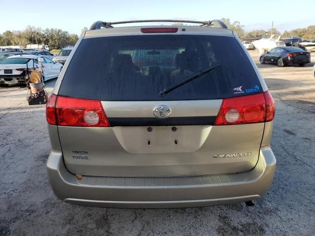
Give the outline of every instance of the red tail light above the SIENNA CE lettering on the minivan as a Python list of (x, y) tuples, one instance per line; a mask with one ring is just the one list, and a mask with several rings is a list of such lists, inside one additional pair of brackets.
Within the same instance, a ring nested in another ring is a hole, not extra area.
[(269, 91), (223, 99), (214, 125), (250, 124), (273, 120), (275, 102)]

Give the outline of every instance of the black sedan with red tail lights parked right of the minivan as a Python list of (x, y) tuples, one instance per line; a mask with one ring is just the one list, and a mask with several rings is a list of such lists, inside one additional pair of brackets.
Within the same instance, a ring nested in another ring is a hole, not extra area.
[(311, 54), (298, 47), (277, 47), (260, 56), (260, 64), (276, 63), (278, 66), (297, 64), (304, 66), (311, 62)]

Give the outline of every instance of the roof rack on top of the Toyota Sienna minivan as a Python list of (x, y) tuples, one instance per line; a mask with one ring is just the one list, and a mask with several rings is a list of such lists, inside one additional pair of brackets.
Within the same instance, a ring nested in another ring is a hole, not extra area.
[(128, 23), (142, 23), (142, 22), (178, 22), (178, 23), (194, 23), (201, 24), (202, 27), (216, 27), (216, 28), (225, 28), (226, 25), (221, 20), (212, 20), (212, 21), (186, 21), (186, 20), (135, 20), (135, 21), (117, 21), (117, 22), (103, 22), (96, 21), (90, 27), (90, 30), (101, 29), (103, 28), (113, 28), (113, 25), (118, 24), (128, 24)]

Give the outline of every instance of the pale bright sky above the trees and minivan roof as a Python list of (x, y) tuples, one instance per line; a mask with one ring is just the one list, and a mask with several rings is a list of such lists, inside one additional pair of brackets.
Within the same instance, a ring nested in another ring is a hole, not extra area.
[(0, 0), (0, 6), (0, 33), (30, 25), (80, 34), (98, 20), (229, 18), (240, 21), (246, 31), (270, 29), (274, 21), (281, 32), (315, 25), (315, 0), (52, 0), (31, 5), (26, 0)]

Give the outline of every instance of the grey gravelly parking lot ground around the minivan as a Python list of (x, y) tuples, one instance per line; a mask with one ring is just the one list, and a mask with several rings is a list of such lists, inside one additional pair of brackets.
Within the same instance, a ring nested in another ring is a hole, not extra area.
[[(58, 200), (46, 173), (45, 106), (27, 90), (0, 88), (0, 236), (315, 234), (315, 78), (305, 67), (259, 64), (276, 102), (273, 185), (254, 207), (244, 203), (175, 209), (80, 207)], [(45, 83), (51, 93), (56, 80)]]

